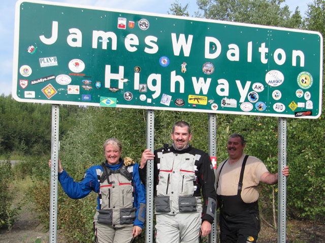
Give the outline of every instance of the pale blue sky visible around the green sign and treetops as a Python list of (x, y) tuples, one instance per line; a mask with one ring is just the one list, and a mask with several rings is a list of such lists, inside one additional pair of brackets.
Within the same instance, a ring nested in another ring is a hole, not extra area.
[[(48, 0), (47, 2), (168, 14), (176, 0)], [(178, 0), (178, 3), (183, 7), (189, 5), (190, 16), (194, 16), (194, 12), (198, 11), (196, 0)], [(292, 12), (299, 7), (301, 15), (304, 16), (310, 3), (312, 0), (286, 0), (284, 4), (288, 5)], [(6, 96), (12, 93), (15, 4), (16, 1), (3, 0), (0, 9), (0, 95)]]

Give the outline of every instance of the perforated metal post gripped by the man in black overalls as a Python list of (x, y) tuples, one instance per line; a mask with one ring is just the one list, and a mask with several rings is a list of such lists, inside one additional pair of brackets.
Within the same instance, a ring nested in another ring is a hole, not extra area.
[(286, 118), (278, 119), (278, 243), (286, 238), (286, 177), (282, 170), (286, 166)]

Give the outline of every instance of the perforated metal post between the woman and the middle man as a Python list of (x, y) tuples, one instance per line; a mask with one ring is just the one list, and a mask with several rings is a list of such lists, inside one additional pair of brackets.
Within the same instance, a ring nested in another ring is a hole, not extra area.
[[(147, 148), (154, 148), (154, 110), (147, 110)], [(146, 181), (146, 242), (153, 242), (153, 160), (147, 161)]]

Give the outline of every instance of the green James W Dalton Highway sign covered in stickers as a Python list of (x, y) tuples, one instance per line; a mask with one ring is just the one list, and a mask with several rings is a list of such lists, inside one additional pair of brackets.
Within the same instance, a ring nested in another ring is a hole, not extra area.
[(18, 1), (22, 102), (317, 118), (315, 31)]

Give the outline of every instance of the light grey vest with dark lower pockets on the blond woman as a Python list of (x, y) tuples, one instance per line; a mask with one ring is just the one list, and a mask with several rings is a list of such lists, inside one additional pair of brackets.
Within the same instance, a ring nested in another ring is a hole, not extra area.
[(133, 224), (136, 208), (133, 206), (132, 171), (129, 172), (124, 165), (118, 170), (111, 170), (104, 163), (102, 167), (104, 171), (99, 178), (100, 209), (95, 214), (94, 222), (113, 227)]

